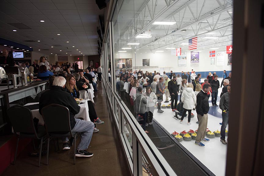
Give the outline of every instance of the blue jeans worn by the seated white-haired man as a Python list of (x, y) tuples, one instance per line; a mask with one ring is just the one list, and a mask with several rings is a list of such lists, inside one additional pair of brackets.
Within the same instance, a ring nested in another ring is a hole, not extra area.
[[(91, 142), (94, 123), (86, 120), (75, 119), (75, 126), (71, 129), (72, 132), (78, 132), (81, 136), (81, 141), (77, 147), (78, 150), (86, 150)], [(62, 142), (68, 142), (68, 138), (62, 138)]]

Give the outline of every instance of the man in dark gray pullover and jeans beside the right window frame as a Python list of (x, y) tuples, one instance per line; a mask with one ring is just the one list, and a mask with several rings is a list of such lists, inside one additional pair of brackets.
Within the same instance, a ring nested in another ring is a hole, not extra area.
[(221, 126), (221, 138), (220, 141), (223, 144), (227, 144), (226, 142), (226, 126), (228, 124), (229, 117), (229, 102), (230, 102), (230, 94), (231, 94), (231, 86), (227, 87), (227, 92), (224, 93), (220, 99), (219, 107), (222, 110), (222, 126)]

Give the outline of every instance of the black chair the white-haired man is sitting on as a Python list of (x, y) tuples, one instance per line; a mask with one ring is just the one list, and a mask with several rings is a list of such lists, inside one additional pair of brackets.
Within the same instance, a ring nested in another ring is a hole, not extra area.
[(46, 133), (48, 136), (47, 146), (47, 165), (49, 160), (49, 145), (51, 138), (74, 138), (74, 156), (73, 163), (75, 164), (75, 150), (76, 150), (76, 132), (71, 131), (70, 113), (69, 109), (59, 104), (50, 104), (41, 110), (43, 120), (46, 126)]

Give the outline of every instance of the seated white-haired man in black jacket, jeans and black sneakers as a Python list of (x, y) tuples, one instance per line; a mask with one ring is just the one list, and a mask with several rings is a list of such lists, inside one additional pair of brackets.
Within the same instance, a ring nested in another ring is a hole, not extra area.
[[(79, 157), (90, 157), (93, 156), (93, 153), (86, 151), (88, 148), (93, 131), (94, 123), (90, 121), (75, 119), (75, 114), (78, 114), (80, 111), (80, 106), (76, 103), (75, 99), (71, 94), (67, 93), (64, 89), (66, 80), (64, 77), (56, 77), (53, 80), (53, 86), (49, 91), (42, 93), (39, 99), (39, 113), (43, 107), (50, 105), (52, 103), (60, 104), (66, 106), (69, 109), (70, 113), (70, 124), (71, 131), (81, 133), (81, 141), (75, 151), (75, 156)], [(60, 125), (60, 124), (57, 124)], [(63, 150), (70, 149), (68, 138), (63, 138)]]

